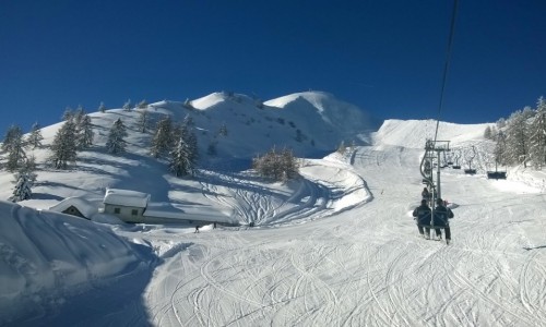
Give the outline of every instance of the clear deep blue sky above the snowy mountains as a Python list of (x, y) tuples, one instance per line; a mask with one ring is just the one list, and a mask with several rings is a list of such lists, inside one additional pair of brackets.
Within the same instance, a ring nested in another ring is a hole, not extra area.
[[(325, 90), (381, 119), (437, 118), (452, 0), (0, 0), (5, 129), (100, 101)], [(546, 1), (460, 0), (442, 120), (546, 96)]]

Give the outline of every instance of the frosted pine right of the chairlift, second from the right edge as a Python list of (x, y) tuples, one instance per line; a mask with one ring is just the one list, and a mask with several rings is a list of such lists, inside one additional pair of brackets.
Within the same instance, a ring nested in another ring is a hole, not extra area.
[(521, 110), (513, 112), (508, 119), (506, 156), (508, 164), (523, 164), (523, 167), (527, 167), (529, 126)]

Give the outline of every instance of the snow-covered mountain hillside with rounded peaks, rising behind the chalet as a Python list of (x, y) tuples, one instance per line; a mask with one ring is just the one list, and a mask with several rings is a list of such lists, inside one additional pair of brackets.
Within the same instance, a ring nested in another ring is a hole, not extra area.
[[(62, 123), (41, 130), (43, 147), (31, 150), (38, 162), (37, 183), (33, 199), (23, 202), (36, 208), (48, 208), (62, 198), (85, 196), (100, 199), (106, 187), (154, 191), (154, 201), (183, 203), (186, 182), (169, 175), (166, 159), (150, 156), (150, 141), (155, 123), (168, 114), (181, 122), (191, 117), (200, 148), (200, 168), (213, 171), (240, 171), (250, 168), (250, 159), (276, 147), (292, 148), (296, 156), (320, 158), (333, 152), (344, 141), (365, 144), (373, 128), (361, 109), (337, 100), (325, 93), (300, 93), (265, 104), (239, 94), (214, 93), (189, 101), (158, 101), (145, 109), (109, 109), (88, 113), (95, 133), (94, 145), (79, 153), (79, 159), (68, 171), (51, 170), (46, 160), (57, 130)], [(141, 132), (140, 111), (149, 112), (149, 129)], [(127, 155), (112, 156), (105, 152), (110, 126), (120, 118), (128, 128)], [(218, 135), (222, 125), (227, 135)], [(360, 135), (360, 136), (357, 136)], [(215, 155), (209, 155), (214, 144)], [(74, 172), (78, 171), (78, 174)], [(0, 198), (11, 196), (13, 175), (0, 171)], [(189, 187), (200, 189), (189, 181)], [(55, 185), (55, 186), (52, 186)]]

